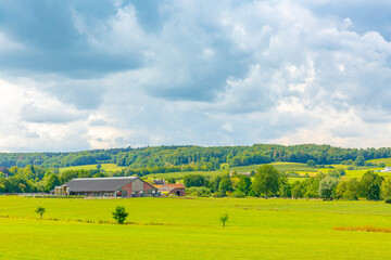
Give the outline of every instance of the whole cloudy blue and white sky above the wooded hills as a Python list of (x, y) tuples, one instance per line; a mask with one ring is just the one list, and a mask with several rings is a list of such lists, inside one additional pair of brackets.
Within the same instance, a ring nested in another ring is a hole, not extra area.
[(391, 146), (386, 0), (1, 0), (0, 152)]

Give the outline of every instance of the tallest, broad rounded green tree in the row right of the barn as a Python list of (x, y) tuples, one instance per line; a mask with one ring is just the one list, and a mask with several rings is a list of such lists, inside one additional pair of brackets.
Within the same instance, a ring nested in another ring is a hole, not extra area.
[(270, 165), (264, 165), (256, 169), (254, 176), (254, 181), (252, 183), (252, 190), (260, 196), (265, 194), (267, 198), (268, 195), (276, 194), (279, 188), (280, 173)]

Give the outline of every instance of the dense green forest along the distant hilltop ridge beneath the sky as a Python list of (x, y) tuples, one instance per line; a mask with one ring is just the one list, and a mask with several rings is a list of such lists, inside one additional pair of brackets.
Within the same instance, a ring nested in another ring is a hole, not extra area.
[(76, 153), (1, 153), (0, 167), (24, 168), (28, 165), (45, 168), (92, 164), (116, 164), (133, 169), (155, 168), (165, 172), (215, 170), (220, 164), (247, 166), (273, 161), (306, 162), (317, 165), (345, 164), (351, 160), (368, 160), (391, 157), (391, 148), (341, 148), (330, 145), (275, 145), (254, 144), (252, 146), (156, 146), (141, 148), (92, 150)]

